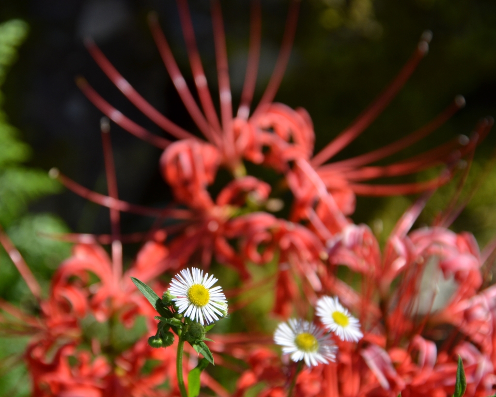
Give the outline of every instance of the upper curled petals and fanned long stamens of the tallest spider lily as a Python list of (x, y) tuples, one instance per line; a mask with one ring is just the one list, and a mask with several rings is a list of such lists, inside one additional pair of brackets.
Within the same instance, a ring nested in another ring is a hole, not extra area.
[[(320, 153), (312, 157), (314, 133), (308, 113), (304, 109), (293, 110), (285, 105), (272, 103), (291, 52), (299, 2), (291, 2), (276, 67), (260, 103), (250, 117), (261, 39), (259, 2), (253, 2), (247, 74), (236, 117), (233, 116), (225, 33), (219, 2), (212, 1), (211, 13), (218, 72), (220, 117), (215, 111), (208, 89), (187, 1), (178, 0), (177, 2), (199, 105), (186, 85), (185, 78), (154, 14), (150, 15), (149, 24), (166, 69), (188, 113), (207, 142), (202, 142), (186, 132), (153, 108), (130, 86), (92, 41), (87, 41), (90, 54), (116, 87), (155, 124), (181, 141), (171, 144), (151, 134), (108, 104), (86, 81), (79, 79), (78, 84), (88, 99), (115, 123), (128, 132), (160, 148), (165, 148), (161, 159), (162, 173), (173, 187), (176, 198), (192, 208), (206, 208), (212, 205), (206, 188), (215, 179), (219, 165), (229, 169), (234, 176), (240, 177), (245, 175), (243, 159), (247, 159), (255, 163), (264, 163), (286, 175), (288, 185), (295, 196), (291, 220), (315, 218), (309, 208), (318, 202), (315, 206), (316, 212), (327, 229), (334, 234), (348, 224), (343, 219), (343, 214), (349, 215), (354, 212), (355, 195), (387, 196), (419, 193), (447, 182), (450, 174), (441, 174), (431, 181), (419, 183), (368, 185), (363, 182), (383, 177), (409, 175), (438, 164), (453, 164), (460, 157), (470, 153), (476, 142), (480, 142), (479, 138), (483, 138), (489, 131), (484, 127), (479, 131), (480, 136), (471, 139), (457, 138), (426, 153), (388, 166), (369, 165), (404, 149), (436, 130), (464, 105), (464, 99), (456, 97), (452, 105), (420, 130), (370, 153), (323, 165), (364, 132), (396, 96), (420, 60), (427, 54), (432, 33), (426, 32), (422, 35), (411, 59), (370, 107)], [(264, 151), (264, 148), (268, 150)], [(295, 166), (292, 166), (292, 162), (295, 162)], [(309, 169), (312, 169), (315, 175), (310, 175)], [(306, 178), (310, 179), (310, 182), (305, 183)], [(322, 191), (322, 187), (328, 192), (327, 195)]]

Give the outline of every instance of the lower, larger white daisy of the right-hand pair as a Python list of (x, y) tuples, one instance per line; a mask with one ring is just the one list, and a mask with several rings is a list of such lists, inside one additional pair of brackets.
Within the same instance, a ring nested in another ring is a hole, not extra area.
[(291, 319), (279, 324), (274, 332), (274, 342), (282, 346), (284, 354), (291, 354), (294, 362), (303, 359), (309, 367), (336, 360), (338, 348), (331, 336), (305, 320)]

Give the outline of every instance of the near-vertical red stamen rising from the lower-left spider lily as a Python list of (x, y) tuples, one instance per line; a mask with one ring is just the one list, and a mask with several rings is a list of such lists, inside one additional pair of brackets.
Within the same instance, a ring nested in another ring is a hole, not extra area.
[[(103, 156), (105, 160), (105, 173), (107, 176), (107, 189), (112, 199), (119, 199), (117, 188), (116, 168), (110, 140), (110, 121), (103, 117), (100, 121), (102, 131)], [(110, 224), (112, 228), (112, 264), (116, 283), (121, 279), (123, 272), (123, 246), (121, 243), (121, 213), (118, 209), (110, 208)]]

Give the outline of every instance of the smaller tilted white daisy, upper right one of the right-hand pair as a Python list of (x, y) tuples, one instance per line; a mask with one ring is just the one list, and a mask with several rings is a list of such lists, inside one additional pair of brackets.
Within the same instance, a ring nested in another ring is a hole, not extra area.
[(322, 324), (341, 340), (358, 342), (364, 334), (360, 322), (343, 307), (337, 297), (322, 296), (317, 301), (317, 316)]

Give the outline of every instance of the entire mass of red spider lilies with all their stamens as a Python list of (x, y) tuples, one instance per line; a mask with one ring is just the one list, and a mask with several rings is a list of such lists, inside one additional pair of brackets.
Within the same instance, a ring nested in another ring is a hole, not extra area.
[[(250, 112), (261, 29), (260, 6), (253, 2), (247, 75), (236, 117), (218, 1), (212, 1), (212, 23), (220, 117), (208, 90), (186, 0), (178, 0), (178, 6), (199, 104), (155, 15), (149, 18), (150, 28), (172, 81), (206, 140), (186, 132), (154, 109), (93, 42), (87, 42), (88, 50), (108, 77), (140, 111), (178, 140), (171, 142), (146, 131), (113, 108), (85, 80), (79, 79), (78, 84), (116, 124), (164, 149), (162, 175), (177, 202), (187, 209), (153, 209), (119, 200), (108, 124), (104, 123), (109, 196), (90, 192), (58, 171), (53, 174), (77, 194), (110, 208), (112, 235), (64, 236), (78, 244), (73, 256), (54, 275), (46, 299), (41, 298), (39, 286), (18, 253), (1, 235), (3, 246), (40, 302), (41, 315), (37, 318), (2, 303), (4, 311), (33, 331), (25, 355), (33, 395), (178, 395), (174, 349), (147, 345), (146, 330), (151, 332), (156, 327), (151, 320), (153, 310), (129, 277), (149, 282), (191, 262), (208, 267), (212, 258), (235, 269), (245, 282), (250, 278), (247, 263), (263, 266), (275, 261), (275, 316), (309, 318), (320, 296), (334, 295), (357, 315), (364, 333), (358, 343), (336, 341), (336, 363), (321, 364), (299, 374), (288, 357), (279, 358), (268, 346), (271, 341), (267, 337), (250, 333), (216, 335), (217, 343), (210, 347), (218, 363), (226, 362), (225, 355), (248, 363), (248, 368), (240, 370), (235, 396), (244, 396), (253, 387), (259, 388), (259, 396), (286, 396), (297, 376), (297, 396), (396, 397), (401, 392), (404, 397), (444, 397), (453, 393), (458, 355), (467, 373), (467, 396), (494, 393), (496, 290), (486, 286), (482, 271), (494, 244), (481, 256), (472, 235), (447, 229), (453, 214), (445, 214), (442, 222), (432, 227), (410, 231), (429, 195), (451, 179), (461, 157), (473, 154), (492, 120), (484, 120), (470, 138), (457, 138), (387, 166), (370, 165), (433, 132), (463, 106), (463, 98), (457, 97), (419, 131), (370, 153), (324, 164), (362, 133), (396, 95), (427, 53), (430, 34), (422, 36), (412, 58), (372, 105), (313, 156), (314, 132), (309, 114), (272, 102), (289, 59), (299, 1), (291, 2), (277, 65), (260, 103)], [(281, 186), (294, 198), (288, 219), (269, 213), (277, 212), (275, 204), (279, 201), (271, 197), (266, 182), (246, 174), (246, 162), (271, 168), (281, 176)], [(445, 171), (431, 181), (364, 183), (439, 164), (445, 164)], [(213, 198), (208, 188), (219, 167), (230, 171), (233, 180)], [(355, 209), (355, 195), (422, 192), (427, 193), (398, 221), (382, 250), (367, 226), (355, 225), (347, 218)], [(121, 236), (120, 211), (170, 216), (181, 222), (170, 237), (168, 230), (160, 228), (143, 235)], [(143, 240), (148, 242), (123, 274), (121, 242)], [(97, 242), (111, 244), (112, 261)], [(338, 266), (346, 267), (349, 279), (355, 280), (352, 285), (337, 276)], [(143, 318), (146, 327), (138, 336), (124, 338), (125, 343), (114, 340), (119, 332), (138, 328)], [(107, 327), (107, 336), (98, 335), (102, 325)], [(191, 354), (188, 365), (194, 365), (194, 361)], [(145, 368), (153, 362), (151, 370)], [(169, 389), (159, 389), (166, 381)], [(202, 384), (220, 396), (229, 395), (208, 374), (202, 375)]]

